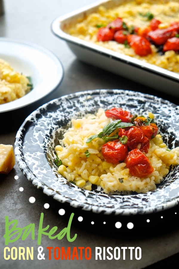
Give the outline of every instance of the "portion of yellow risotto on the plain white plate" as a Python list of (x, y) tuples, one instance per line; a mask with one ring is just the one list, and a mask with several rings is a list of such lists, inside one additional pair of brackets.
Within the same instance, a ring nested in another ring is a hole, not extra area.
[(23, 97), (32, 87), (30, 77), (14, 71), (9, 63), (0, 59), (0, 104)]

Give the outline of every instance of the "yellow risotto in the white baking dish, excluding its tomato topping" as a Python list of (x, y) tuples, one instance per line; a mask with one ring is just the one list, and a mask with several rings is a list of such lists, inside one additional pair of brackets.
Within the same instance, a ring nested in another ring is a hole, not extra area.
[(107, 25), (117, 17), (120, 17), (129, 28), (131, 26), (146, 28), (149, 26), (150, 21), (140, 14), (146, 14), (147, 12), (151, 12), (156, 19), (162, 22), (159, 28), (167, 28), (172, 22), (179, 21), (179, 2), (177, 0), (136, 0), (125, 1), (120, 6), (111, 9), (100, 6), (97, 12), (91, 13), (87, 18), (79, 20), (77, 24), (68, 29), (68, 33), (104, 48), (135, 57), (178, 73), (179, 55), (175, 53), (175, 51), (166, 51), (164, 55), (160, 55), (157, 52), (157, 48), (151, 45), (152, 54), (139, 56), (135, 54), (132, 48), (126, 48), (123, 44), (119, 44), (116, 41), (97, 41), (96, 34), (98, 28), (96, 25)]

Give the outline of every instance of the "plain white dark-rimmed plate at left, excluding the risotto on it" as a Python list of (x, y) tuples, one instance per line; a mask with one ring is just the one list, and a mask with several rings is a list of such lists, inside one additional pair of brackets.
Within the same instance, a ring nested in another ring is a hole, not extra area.
[(9, 62), (15, 71), (31, 77), (33, 89), (18, 100), (1, 104), (0, 113), (28, 106), (53, 91), (63, 78), (59, 59), (36, 44), (0, 38), (0, 58)]

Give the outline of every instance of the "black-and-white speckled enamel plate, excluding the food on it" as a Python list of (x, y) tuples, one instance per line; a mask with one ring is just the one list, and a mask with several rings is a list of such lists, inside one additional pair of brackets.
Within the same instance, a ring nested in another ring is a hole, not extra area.
[(178, 106), (133, 91), (84, 91), (50, 101), (27, 117), (15, 141), (15, 155), (21, 171), (33, 185), (55, 200), (95, 213), (146, 214), (174, 207), (179, 203), (179, 166), (170, 169), (157, 189), (145, 194), (105, 194), (101, 188), (88, 191), (59, 175), (54, 163), (55, 146), (61, 143), (71, 119), (95, 113), (100, 107), (110, 109), (114, 106), (138, 115), (151, 111), (164, 142), (170, 149), (179, 146)]

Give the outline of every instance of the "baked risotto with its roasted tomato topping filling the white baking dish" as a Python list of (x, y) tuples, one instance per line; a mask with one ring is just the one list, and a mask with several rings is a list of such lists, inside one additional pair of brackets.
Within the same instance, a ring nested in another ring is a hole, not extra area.
[(72, 36), (179, 72), (179, 1), (135, 0), (79, 19)]

